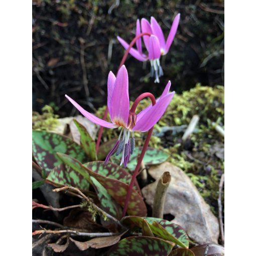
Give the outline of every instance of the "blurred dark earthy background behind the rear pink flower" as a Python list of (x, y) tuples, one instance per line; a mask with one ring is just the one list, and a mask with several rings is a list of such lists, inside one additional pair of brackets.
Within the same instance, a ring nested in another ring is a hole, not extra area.
[(49, 104), (74, 115), (65, 94), (89, 111), (104, 105), (108, 72), (116, 73), (124, 53), (116, 36), (131, 42), (136, 20), (154, 16), (167, 38), (178, 13), (160, 84), (149, 77), (149, 62), (127, 58), (131, 100), (145, 91), (159, 96), (168, 80), (178, 93), (198, 82), (224, 84), (224, 1), (33, 0), (33, 110)]

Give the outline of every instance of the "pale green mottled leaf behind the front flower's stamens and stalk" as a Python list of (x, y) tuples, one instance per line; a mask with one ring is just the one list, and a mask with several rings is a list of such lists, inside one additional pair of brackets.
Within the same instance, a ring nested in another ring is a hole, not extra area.
[[(127, 164), (127, 168), (130, 169), (131, 171), (134, 171), (137, 165), (137, 160), (139, 155), (141, 154), (142, 148), (137, 147), (134, 149), (133, 155), (131, 155), (130, 160)], [(113, 160), (114, 163), (120, 164), (121, 161), (121, 154), (119, 156), (113, 155), (111, 159)], [(157, 150), (154, 148), (148, 148), (145, 156), (143, 158), (143, 162), (145, 165), (158, 165), (163, 162), (165, 162), (169, 158), (169, 155), (165, 153), (162, 150)]]

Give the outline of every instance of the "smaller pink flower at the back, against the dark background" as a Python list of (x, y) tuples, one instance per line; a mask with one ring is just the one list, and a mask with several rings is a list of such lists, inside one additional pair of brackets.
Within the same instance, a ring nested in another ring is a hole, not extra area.
[[(129, 51), (129, 53), (139, 61), (150, 60), (151, 76), (155, 75), (156, 77), (155, 82), (157, 83), (159, 83), (159, 77), (161, 77), (164, 74), (159, 61), (160, 57), (161, 55), (165, 55), (168, 53), (171, 47), (171, 44), (174, 40), (175, 34), (177, 32), (179, 21), (180, 21), (180, 14), (178, 14), (174, 18), (168, 38), (165, 41), (164, 33), (154, 17), (151, 17), (151, 21), (150, 21), (151, 23), (149, 23), (144, 18), (141, 20), (141, 24), (140, 24), (140, 20), (139, 19), (137, 20), (136, 36), (141, 34), (141, 28), (142, 28), (142, 33), (151, 34), (150, 37), (143, 36), (143, 41), (148, 51), (148, 54), (146, 55), (142, 52), (141, 37), (136, 41), (137, 49), (132, 48)], [(129, 44), (127, 44), (122, 38), (117, 36), (117, 39), (121, 43), (121, 45), (125, 48), (125, 50), (129, 47)]]

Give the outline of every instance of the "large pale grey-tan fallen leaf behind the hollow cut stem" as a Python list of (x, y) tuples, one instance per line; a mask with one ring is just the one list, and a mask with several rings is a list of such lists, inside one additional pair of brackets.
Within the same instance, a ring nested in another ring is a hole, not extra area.
[[(218, 219), (204, 201), (189, 177), (178, 167), (165, 162), (152, 166), (149, 174), (158, 179), (164, 172), (170, 172), (172, 182), (168, 188), (164, 214), (172, 214), (173, 223), (181, 225), (188, 235), (198, 243), (215, 242), (219, 236)], [(153, 206), (157, 182), (142, 189), (146, 202)]]

